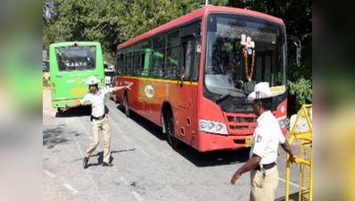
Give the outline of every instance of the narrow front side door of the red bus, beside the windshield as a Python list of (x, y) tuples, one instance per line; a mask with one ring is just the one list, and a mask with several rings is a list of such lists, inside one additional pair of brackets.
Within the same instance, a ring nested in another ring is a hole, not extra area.
[[(197, 121), (197, 86), (194, 82), (193, 69), (196, 55), (196, 36), (199, 23), (182, 29), (180, 71), (177, 86), (176, 137), (191, 146), (196, 146), (195, 121)], [(198, 37), (198, 36), (197, 36)]]

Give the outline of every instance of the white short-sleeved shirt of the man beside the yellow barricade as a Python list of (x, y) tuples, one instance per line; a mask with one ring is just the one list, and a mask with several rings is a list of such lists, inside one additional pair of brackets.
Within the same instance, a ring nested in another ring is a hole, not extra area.
[(252, 155), (261, 157), (260, 164), (274, 163), (277, 161), (279, 144), (285, 143), (285, 137), (280, 129), (275, 116), (266, 111), (257, 119), (257, 126), (252, 136)]

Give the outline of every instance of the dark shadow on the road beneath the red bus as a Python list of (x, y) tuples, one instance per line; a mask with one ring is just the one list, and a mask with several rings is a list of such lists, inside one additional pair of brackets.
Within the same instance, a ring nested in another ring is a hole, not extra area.
[[(117, 108), (124, 112), (124, 106), (118, 105)], [(161, 127), (155, 125), (153, 122), (144, 119), (144, 117), (134, 115), (131, 118), (140, 125), (144, 130), (152, 133), (153, 136), (160, 140), (167, 140), (167, 136), (162, 133)], [(168, 143), (168, 142), (167, 142)], [(175, 149), (175, 151), (185, 157), (191, 163), (198, 167), (206, 166), (216, 166), (216, 165), (227, 165), (234, 163), (244, 163), (249, 159), (250, 148), (244, 148), (235, 151), (214, 151), (201, 153), (194, 149), (194, 147), (189, 147), (184, 144), (183, 147)]]

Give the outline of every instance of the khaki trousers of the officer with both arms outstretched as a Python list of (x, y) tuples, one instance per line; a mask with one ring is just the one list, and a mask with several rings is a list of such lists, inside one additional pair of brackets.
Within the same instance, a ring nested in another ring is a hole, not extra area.
[(99, 132), (100, 130), (103, 132), (103, 141), (104, 141), (104, 151), (103, 151), (103, 162), (110, 162), (111, 155), (111, 133), (110, 126), (108, 123), (107, 116), (103, 118), (103, 120), (93, 120), (91, 121), (91, 126), (93, 129), (93, 142), (90, 147), (87, 149), (87, 153), (85, 156), (87, 158), (90, 157), (91, 154), (95, 151), (96, 147), (99, 145)]

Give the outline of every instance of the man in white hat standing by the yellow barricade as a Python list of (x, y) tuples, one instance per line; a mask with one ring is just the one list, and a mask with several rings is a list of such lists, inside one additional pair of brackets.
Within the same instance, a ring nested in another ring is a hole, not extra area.
[(253, 101), (253, 111), (257, 115), (257, 126), (252, 137), (250, 159), (235, 172), (230, 183), (235, 185), (244, 172), (251, 171), (251, 201), (273, 201), (278, 186), (277, 148), (281, 145), (295, 162), (290, 144), (285, 139), (276, 117), (270, 112), (272, 96), (268, 82), (255, 85), (248, 96)]

